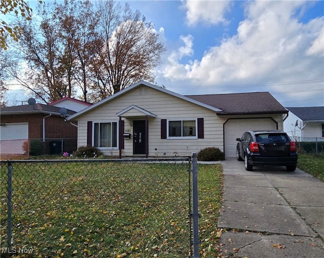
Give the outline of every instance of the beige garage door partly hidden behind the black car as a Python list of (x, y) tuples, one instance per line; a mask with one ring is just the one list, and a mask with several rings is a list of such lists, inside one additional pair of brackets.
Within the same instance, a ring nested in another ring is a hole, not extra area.
[(224, 126), (225, 156), (236, 156), (236, 138), (248, 130), (275, 130), (276, 122), (270, 118), (229, 119)]

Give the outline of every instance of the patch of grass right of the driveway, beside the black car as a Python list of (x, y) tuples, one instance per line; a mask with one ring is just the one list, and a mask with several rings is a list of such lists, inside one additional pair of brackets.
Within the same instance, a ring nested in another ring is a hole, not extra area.
[(297, 166), (324, 182), (324, 153), (299, 154)]

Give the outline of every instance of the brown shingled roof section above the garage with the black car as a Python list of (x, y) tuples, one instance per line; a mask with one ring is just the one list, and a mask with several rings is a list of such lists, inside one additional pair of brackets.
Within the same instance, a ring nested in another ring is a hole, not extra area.
[(288, 110), (268, 92), (189, 95), (193, 100), (221, 109), (217, 115), (285, 114)]

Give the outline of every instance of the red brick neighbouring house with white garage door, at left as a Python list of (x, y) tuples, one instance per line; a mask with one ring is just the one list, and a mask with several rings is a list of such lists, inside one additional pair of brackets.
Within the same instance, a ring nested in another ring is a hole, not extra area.
[[(74, 113), (67, 109), (66, 117)], [(42, 142), (44, 153), (76, 150), (77, 124), (67, 122), (60, 107), (39, 103), (2, 107), (0, 117), (1, 155), (23, 154), (23, 142), (33, 139)]]

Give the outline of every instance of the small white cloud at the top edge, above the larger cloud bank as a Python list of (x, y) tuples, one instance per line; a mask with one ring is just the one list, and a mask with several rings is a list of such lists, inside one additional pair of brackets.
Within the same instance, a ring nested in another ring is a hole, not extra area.
[(187, 22), (194, 25), (198, 22), (207, 24), (228, 23), (224, 14), (229, 10), (230, 1), (186, 1)]

